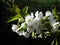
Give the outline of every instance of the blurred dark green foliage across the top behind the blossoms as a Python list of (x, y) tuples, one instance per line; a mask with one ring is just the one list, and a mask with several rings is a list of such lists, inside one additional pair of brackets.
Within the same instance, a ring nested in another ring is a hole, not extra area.
[[(45, 12), (46, 10), (51, 10), (59, 0), (2, 0), (8, 7), (14, 6), (14, 4), (18, 5), (20, 8), (25, 6), (29, 7), (29, 12), (35, 12), (36, 10), (40, 10)], [(59, 6), (59, 5), (58, 5)]]

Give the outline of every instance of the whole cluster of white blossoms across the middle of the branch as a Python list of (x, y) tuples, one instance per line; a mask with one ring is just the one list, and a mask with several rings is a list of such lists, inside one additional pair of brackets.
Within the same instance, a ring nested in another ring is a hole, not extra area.
[(23, 35), (26, 38), (29, 38), (32, 32), (35, 32), (35, 34), (40, 34), (42, 33), (42, 30), (48, 29), (46, 28), (45, 24), (42, 23), (42, 19), (46, 17), (48, 17), (47, 19), (50, 21), (50, 25), (52, 27), (51, 32), (54, 33), (56, 30), (58, 30), (59, 22), (56, 22), (53, 14), (50, 11), (46, 11), (45, 16), (43, 16), (43, 13), (41, 11), (36, 11), (35, 14), (28, 14), (27, 16), (25, 16), (25, 22), (22, 23), (20, 27), (13, 24), (12, 30), (18, 33), (20, 36)]

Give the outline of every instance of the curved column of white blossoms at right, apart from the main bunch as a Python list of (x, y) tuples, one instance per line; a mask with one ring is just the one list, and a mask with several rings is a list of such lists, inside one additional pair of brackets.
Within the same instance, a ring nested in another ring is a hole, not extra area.
[(46, 16), (49, 16), (49, 20), (50, 20), (50, 24), (52, 26), (51, 31), (55, 32), (56, 30), (58, 30), (58, 26), (57, 24), (59, 24), (59, 22), (56, 22), (56, 20), (53, 17), (53, 14), (50, 11), (46, 11)]

